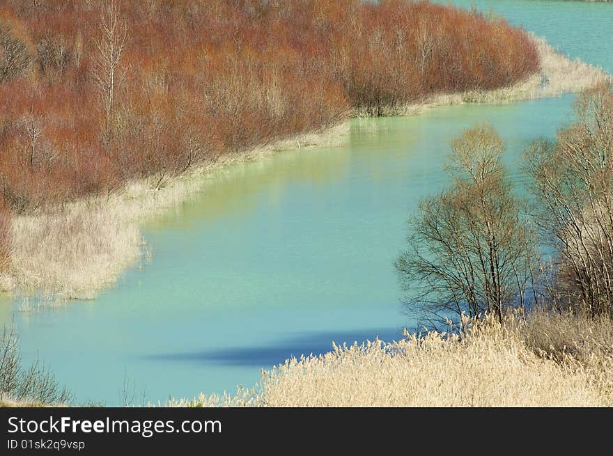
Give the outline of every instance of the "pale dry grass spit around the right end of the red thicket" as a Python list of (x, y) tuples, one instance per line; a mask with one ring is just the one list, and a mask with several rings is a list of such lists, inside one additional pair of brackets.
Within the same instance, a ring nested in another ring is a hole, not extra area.
[[(548, 45), (544, 38), (532, 35), (536, 41), (541, 70), (525, 81), (493, 91), (467, 91), (428, 97), (417, 104), (401, 104), (382, 109), (383, 116), (414, 116), (437, 106), (465, 103), (503, 103), (518, 100), (534, 100), (563, 93), (575, 93), (609, 78), (600, 68), (572, 60)], [(366, 117), (365, 111), (355, 116)]]

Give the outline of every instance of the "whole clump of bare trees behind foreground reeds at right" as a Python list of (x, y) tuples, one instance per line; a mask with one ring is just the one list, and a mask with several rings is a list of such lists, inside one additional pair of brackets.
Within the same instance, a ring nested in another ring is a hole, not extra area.
[(613, 317), (613, 85), (584, 91), (574, 111), (556, 141), (525, 153), (529, 205), (513, 196), (491, 127), (453, 142), (453, 187), (421, 203), (396, 262), (412, 310), (502, 320), (505, 308), (544, 304)]

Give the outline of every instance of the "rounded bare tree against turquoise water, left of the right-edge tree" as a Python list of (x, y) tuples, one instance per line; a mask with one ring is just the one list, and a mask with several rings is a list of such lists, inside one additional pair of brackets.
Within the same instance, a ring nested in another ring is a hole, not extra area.
[(534, 237), (506, 177), (504, 149), (488, 125), (453, 141), (453, 187), (421, 202), (409, 249), (396, 261), (411, 310), (436, 320), (488, 312), (502, 321), (505, 308), (534, 299)]

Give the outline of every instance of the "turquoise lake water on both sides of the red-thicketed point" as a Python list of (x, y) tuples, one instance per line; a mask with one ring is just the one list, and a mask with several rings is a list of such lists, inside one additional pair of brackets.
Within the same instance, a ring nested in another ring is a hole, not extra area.
[[(455, 1), (492, 8), (562, 52), (613, 72), (613, 4)], [(261, 368), (336, 342), (398, 338), (405, 315), (392, 265), (420, 198), (448, 184), (444, 158), (462, 129), (488, 121), (520, 155), (572, 120), (573, 95), (441, 107), (352, 120), (346, 146), (282, 152), (226, 168), (201, 194), (145, 227), (153, 258), (95, 301), (23, 312), (24, 359), (37, 354), (79, 402), (121, 404), (200, 391), (233, 393)]]

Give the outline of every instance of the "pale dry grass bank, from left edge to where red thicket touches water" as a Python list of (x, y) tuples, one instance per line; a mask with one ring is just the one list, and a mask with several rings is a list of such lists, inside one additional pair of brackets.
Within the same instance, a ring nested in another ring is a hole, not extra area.
[(115, 283), (125, 268), (143, 255), (150, 255), (139, 230), (141, 223), (197, 194), (203, 176), (282, 150), (336, 146), (348, 131), (348, 124), (343, 123), (325, 132), (302, 134), (241, 155), (222, 157), (157, 190), (153, 189), (153, 181), (141, 180), (116, 194), (15, 217), (11, 226), (10, 275), (0, 278), (0, 286), (26, 296), (36, 293), (42, 299), (37, 300), (39, 304), (94, 299), (100, 290)]

